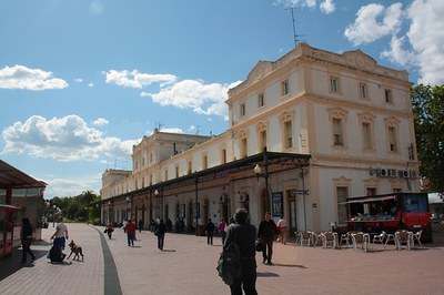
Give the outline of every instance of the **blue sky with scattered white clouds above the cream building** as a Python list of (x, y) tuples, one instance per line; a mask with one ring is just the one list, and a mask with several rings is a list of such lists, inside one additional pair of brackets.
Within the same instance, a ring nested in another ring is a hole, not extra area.
[(223, 133), (228, 89), (294, 48), (290, 7), (312, 47), (444, 82), (442, 0), (1, 1), (0, 159), (70, 196), (154, 128)]

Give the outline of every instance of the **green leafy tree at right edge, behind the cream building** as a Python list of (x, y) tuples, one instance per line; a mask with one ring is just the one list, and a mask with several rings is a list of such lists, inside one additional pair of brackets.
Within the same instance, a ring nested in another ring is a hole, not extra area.
[(444, 85), (412, 89), (420, 173), (431, 192), (444, 193)]

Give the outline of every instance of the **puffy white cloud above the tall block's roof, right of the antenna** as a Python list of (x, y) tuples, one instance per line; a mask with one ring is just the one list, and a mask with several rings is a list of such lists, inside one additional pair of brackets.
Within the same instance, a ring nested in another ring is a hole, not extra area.
[(403, 18), (402, 3), (394, 3), (387, 9), (381, 4), (362, 7), (356, 20), (349, 26), (344, 34), (354, 45), (373, 42), (400, 30)]

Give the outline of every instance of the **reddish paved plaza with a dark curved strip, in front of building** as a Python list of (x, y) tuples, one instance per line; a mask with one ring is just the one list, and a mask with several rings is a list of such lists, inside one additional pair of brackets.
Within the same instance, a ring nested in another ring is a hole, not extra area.
[[(0, 260), (0, 294), (230, 294), (215, 271), (219, 237), (168, 233), (164, 251), (148, 231), (129, 247), (122, 230), (112, 240), (103, 227), (68, 224), (70, 240), (83, 247), (84, 261), (51, 264), (46, 255), (53, 227), (33, 244), (38, 260), (19, 263), (21, 250)], [(364, 253), (274, 244), (274, 265), (258, 261), (259, 294), (444, 294), (444, 233), (413, 251), (376, 245)]]

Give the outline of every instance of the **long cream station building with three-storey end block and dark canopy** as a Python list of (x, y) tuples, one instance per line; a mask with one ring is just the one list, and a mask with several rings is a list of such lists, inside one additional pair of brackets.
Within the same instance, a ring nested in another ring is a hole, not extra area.
[(265, 211), (283, 214), (291, 232), (345, 224), (346, 197), (420, 192), (410, 90), (407, 72), (360, 50), (302, 43), (260, 61), (229, 91), (223, 134), (155, 131), (133, 148), (130, 173), (105, 171), (102, 220), (199, 230), (243, 206), (255, 225)]

